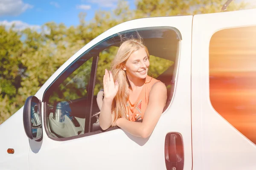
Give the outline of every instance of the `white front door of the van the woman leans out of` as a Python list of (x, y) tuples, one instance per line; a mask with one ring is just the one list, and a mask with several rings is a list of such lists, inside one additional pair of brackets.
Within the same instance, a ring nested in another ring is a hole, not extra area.
[[(29, 143), (29, 169), (191, 170), (191, 28), (192, 16), (131, 20), (74, 54), (36, 94), (44, 132), (40, 142)], [(118, 33), (137, 32), (151, 54), (149, 76), (168, 89), (166, 108), (148, 139), (117, 127), (103, 131), (96, 116), (102, 70), (109, 70), (116, 54)]]

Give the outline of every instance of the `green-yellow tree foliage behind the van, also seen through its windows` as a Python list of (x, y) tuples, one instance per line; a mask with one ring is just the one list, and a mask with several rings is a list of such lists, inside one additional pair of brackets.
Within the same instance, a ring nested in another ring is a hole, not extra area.
[[(137, 0), (136, 8), (131, 10), (126, 1), (120, 1), (112, 12), (96, 11), (89, 22), (84, 20), (86, 14), (80, 13), (78, 26), (49, 22), (42, 26), (41, 32), (29, 28), (19, 32), (14, 27), (6, 29), (0, 26), (0, 124), (22, 107), (26, 98), (34, 95), (68, 58), (109, 28), (141, 17), (220, 12), (224, 3), (225, 0)], [(235, 2), (228, 7), (229, 11), (246, 8), (252, 7)], [(98, 67), (95, 93), (101, 88), (104, 68), (110, 66), (110, 56), (115, 52), (116, 49), (111, 48), (100, 54), (99, 65), (104, 67)], [(154, 56), (151, 60), (155, 63), (150, 68), (154, 76), (172, 65)], [(76, 72), (74, 74), (79, 75), (79, 70)], [(67, 84), (70, 79), (66, 81), (63, 83)], [(86, 89), (78, 88), (79, 92), (74, 91), (75, 96), (70, 96), (62, 86), (59, 88), (62, 92), (56, 91), (52, 99), (76, 98), (87, 93)]]

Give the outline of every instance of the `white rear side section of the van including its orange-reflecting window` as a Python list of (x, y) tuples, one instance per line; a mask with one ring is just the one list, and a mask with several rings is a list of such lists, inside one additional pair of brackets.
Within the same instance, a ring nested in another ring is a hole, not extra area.
[(251, 9), (193, 18), (193, 169), (256, 167), (255, 16)]

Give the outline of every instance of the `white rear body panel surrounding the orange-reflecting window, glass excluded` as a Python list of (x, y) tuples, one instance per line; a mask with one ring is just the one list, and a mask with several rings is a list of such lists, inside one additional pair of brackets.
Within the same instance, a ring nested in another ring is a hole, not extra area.
[[(215, 32), (256, 26), (256, 9), (193, 18), (192, 148), (195, 170), (255, 170), (256, 145), (212, 107), (209, 96), (209, 45)], [(256, 123), (256, 122), (255, 122)]]

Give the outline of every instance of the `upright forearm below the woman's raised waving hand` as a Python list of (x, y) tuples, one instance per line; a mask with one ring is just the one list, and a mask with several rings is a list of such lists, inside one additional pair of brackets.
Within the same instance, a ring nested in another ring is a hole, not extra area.
[(102, 130), (108, 129), (112, 124), (111, 105), (113, 99), (103, 99), (102, 108), (99, 114), (99, 125)]

